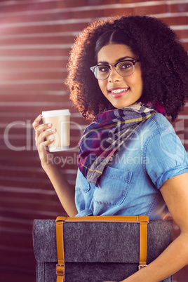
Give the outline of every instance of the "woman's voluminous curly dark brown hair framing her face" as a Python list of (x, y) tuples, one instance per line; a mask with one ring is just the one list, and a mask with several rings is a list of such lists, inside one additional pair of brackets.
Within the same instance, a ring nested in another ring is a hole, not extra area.
[(140, 59), (145, 102), (159, 102), (174, 121), (187, 98), (188, 57), (176, 34), (149, 16), (122, 16), (92, 22), (76, 38), (66, 84), (70, 99), (86, 119), (109, 109), (90, 67), (97, 65), (100, 48), (123, 43)]

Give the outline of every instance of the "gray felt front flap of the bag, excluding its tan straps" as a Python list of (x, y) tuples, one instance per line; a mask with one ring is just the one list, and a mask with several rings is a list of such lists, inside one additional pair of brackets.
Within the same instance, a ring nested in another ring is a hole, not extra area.
[[(147, 225), (147, 263), (172, 241), (172, 220), (150, 220)], [(139, 262), (140, 224), (132, 222), (65, 222), (65, 262)], [(34, 220), (37, 261), (57, 262), (55, 220)]]

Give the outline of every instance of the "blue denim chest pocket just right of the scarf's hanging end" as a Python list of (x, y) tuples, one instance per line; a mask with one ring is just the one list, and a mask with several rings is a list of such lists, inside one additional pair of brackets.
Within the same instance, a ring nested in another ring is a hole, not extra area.
[(107, 166), (95, 189), (93, 200), (102, 205), (119, 206), (126, 199), (132, 173)]

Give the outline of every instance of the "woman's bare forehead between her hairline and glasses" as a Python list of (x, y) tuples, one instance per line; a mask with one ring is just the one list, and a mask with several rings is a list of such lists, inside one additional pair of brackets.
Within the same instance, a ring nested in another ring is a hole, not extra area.
[(135, 54), (130, 50), (130, 47), (124, 44), (108, 44), (98, 52), (98, 62), (114, 63), (119, 58), (130, 57), (135, 58)]

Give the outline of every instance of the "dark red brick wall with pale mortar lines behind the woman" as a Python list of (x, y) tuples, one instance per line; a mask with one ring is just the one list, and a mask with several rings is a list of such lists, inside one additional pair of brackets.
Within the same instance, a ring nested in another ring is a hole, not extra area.
[[(161, 18), (188, 50), (187, 0), (0, 1), (0, 281), (35, 281), (32, 222), (65, 215), (40, 167), (32, 122), (43, 110), (72, 112), (74, 149), (54, 154), (54, 161), (60, 167), (66, 162), (62, 173), (74, 186), (76, 144), (87, 123), (72, 108), (63, 83), (69, 51), (91, 20), (122, 13)], [(188, 150), (187, 113), (186, 106), (173, 126)], [(174, 231), (177, 236), (176, 226)], [(185, 267), (175, 281), (187, 276)]]

